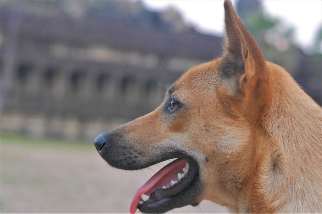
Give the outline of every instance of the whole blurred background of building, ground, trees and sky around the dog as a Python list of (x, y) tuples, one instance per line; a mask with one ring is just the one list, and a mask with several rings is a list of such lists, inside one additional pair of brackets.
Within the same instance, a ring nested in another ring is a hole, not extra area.
[[(233, 4), (266, 60), (321, 105), (322, 2)], [(0, 211), (128, 212), (165, 163), (116, 170), (93, 139), (155, 109), (167, 85), (221, 56), (223, 35), (222, 1), (1, 0)]]

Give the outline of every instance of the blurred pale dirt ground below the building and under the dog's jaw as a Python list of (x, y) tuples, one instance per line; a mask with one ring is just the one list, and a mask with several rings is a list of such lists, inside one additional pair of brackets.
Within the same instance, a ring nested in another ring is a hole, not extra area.
[[(128, 213), (131, 199), (160, 167), (114, 169), (92, 143), (39, 141), (1, 135), (2, 213)], [(137, 211), (138, 212), (138, 211)], [(169, 213), (214, 213), (210, 201)]]

